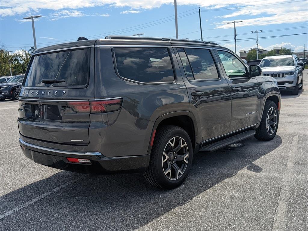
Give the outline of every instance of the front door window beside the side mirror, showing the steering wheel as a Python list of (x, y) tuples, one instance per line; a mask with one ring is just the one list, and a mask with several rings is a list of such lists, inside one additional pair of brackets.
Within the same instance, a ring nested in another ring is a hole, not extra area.
[(247, 77), (246, 68), (240, 60), (227, 51), (217, 51), (229, 78)]

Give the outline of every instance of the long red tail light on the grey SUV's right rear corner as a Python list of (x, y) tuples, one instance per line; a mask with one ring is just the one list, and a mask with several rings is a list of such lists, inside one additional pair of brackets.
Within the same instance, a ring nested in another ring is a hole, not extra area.
[(102, 113), (117, 111), (120, 109), (121, 105), (122, 98), (67, 102), (67, 106), (71, 107), (78, 113)]

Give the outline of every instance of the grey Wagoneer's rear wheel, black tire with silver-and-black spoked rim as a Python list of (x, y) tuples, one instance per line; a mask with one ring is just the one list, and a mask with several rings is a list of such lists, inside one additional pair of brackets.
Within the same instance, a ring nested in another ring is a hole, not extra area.
[(188, 176), (192, 162), (193, 147), (187, 132), (178, 126), (166, 126), (155, 136), (150, 164), (144, 177), (158, 188), (176, 188)]

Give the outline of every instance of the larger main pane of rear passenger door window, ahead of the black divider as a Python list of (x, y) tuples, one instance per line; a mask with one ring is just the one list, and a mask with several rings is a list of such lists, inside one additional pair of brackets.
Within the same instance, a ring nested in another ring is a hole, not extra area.
[(218, 79), (217, 68), (209, 50), (185, 48), (194, 79)]

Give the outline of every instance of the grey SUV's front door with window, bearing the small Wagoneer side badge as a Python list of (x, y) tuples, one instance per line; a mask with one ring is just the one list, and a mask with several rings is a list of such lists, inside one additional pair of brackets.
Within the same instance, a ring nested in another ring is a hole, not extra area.
[(248, 67), (231, 52), (216, 52), (231, 91), (232, 119), (229, 132), (257, 124), (260, 114), (260, 87), (257, 79), (250, 78)]

